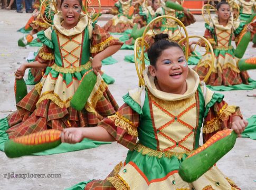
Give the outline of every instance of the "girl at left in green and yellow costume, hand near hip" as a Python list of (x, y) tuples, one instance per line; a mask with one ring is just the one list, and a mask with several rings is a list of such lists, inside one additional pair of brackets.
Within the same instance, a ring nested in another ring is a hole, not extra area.
[(37, 34), (43, 47), (36, 61), (22, 64), (15, 72), (16, 79), (22, 79), (27, 68), (46, 68), (41, 82), (17, 103), (17, 111), (0, 121), (8, 138), (46, 129), (96, 126), (118, 109), (99, 74), (84, 109), (78, 111), (70, 106), (83, 76), (100, 72), (101, 60), (122, 45), (92, 23), (81, 9), (79, 0), (62, 0), (61, 12), (54, 15), (53, 25)]

